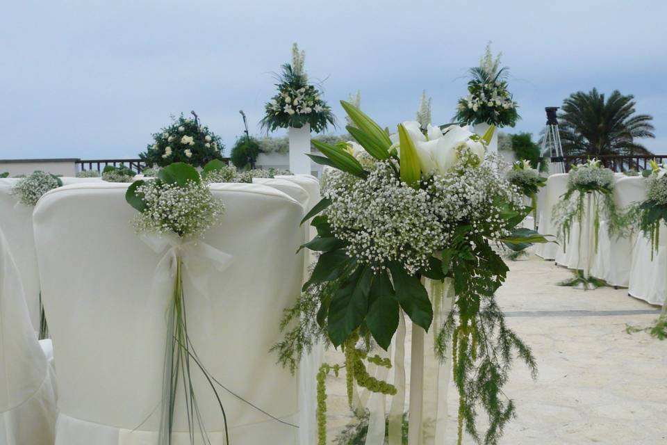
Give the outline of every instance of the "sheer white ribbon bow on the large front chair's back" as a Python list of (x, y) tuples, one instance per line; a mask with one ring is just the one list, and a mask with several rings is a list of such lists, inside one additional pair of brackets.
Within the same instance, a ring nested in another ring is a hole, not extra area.
[(192, 285), (207, 300), (211, 291), (208, 286), (211, 268), (222, 272), (233, 261), (230, 254), (196, 238), (181, 238), (174, 233), (167, 233), (141, 234), (140, 239), (156, 253), (166, 250), (155, 268), (154, 280), (160, 282), (172, 280), (176, 276), (176, 262), (181, 258), (183, 274), (188, 275)]

